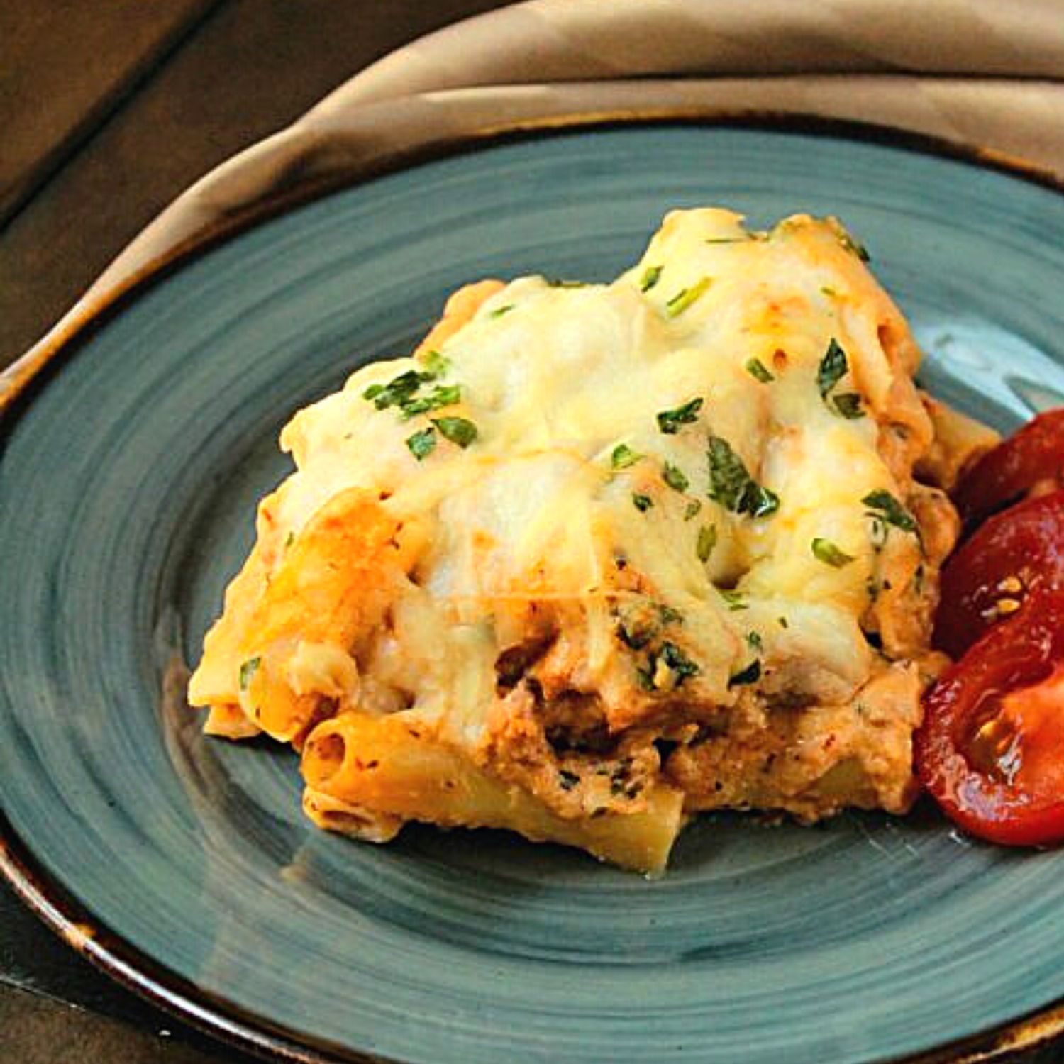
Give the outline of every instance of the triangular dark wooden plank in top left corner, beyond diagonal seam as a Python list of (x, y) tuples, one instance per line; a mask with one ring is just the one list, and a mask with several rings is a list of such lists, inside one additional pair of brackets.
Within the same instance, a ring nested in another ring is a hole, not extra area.
[(0, 223), (218, 2), (0, 4)]

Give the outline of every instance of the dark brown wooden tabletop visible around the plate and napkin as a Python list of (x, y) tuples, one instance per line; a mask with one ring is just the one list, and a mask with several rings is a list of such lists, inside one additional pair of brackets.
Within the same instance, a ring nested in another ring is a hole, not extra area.
[[(406, 40), (506, 2), (0, 0), (0, 367), (216, 163)], [(0, 1060), (250, 1059), (97, 974), (0, 885)]]

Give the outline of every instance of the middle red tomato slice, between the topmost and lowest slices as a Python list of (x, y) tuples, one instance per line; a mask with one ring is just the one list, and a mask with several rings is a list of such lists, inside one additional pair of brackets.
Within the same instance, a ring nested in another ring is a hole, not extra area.
[(935, 646), (960, 658), (1037, 589), (1064, 587), (1064, 492), (1028, 499), (985, 521), (942, 570)]

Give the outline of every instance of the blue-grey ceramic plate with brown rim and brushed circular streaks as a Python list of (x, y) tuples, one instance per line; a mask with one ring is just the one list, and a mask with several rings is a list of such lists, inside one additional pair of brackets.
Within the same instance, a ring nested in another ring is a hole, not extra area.
[(839, 214), (932, 390), (1000, 428), (1064, 401), (1064, 197), (838, 131), (480, 143), (186, 260), (3, 422), (2, 863), (76, 945), (307, 1059), (885, 1060), (1064, 996), (1064, 852), (972, 843), (927, 809), (703, 819), (658, 882), (488, 832), (360, 846), (303, 820), (290, 752), (204, 739), (182, 702), (296, 408), (406, 351), (463, 282), (608, 279), (700, 203)]

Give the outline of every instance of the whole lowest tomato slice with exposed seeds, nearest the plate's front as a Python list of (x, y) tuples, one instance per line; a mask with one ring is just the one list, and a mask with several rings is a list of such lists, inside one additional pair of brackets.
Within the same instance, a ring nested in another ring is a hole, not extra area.
[(1005, 846), (1064, 841), (1064, 592), (1034, 592), (924, 696), (913, 750), (946, 814)]

